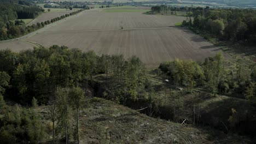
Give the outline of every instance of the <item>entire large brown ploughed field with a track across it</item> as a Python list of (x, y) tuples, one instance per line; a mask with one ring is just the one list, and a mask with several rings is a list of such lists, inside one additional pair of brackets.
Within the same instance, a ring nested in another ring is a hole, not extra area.
[[(188, 29), (174, 27), (184, 19), (186, 18), (171, 15), (107, 13), (103, 9), (94, 9), (25, 40), (46, 47), (66, 45), (83, 51), (93, 50), (98, 55), (123, 54), (126, 58), (135, 55), (149, 67), (156, 67), (161, 62), (175, 58), (202, 61), (220, 51)], [(21, 47), (17, 46), (10, 49), (17, 50)], [(1, 44), (0, 47), (4, 48)]]

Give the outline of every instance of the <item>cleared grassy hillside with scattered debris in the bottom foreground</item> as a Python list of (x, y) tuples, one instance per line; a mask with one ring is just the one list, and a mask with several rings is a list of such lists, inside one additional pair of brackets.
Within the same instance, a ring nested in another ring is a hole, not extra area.
[[(87, 101), (80, 119), (81, 143), (247, 143), (246, 137), (151, 118), (108, 100)], [(46, 111), (47, 106), (37, 108), (48, 123)]]

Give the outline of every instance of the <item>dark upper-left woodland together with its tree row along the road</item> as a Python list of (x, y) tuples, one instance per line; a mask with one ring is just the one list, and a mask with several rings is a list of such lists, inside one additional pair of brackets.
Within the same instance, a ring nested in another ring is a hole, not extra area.
[(43, 12), (44, 9), (34, 5), (28, 7), (16, 3), (0, 3), (0, 40), (13, 39), (31, 33), (45, 25), (77, 14), (82, 10), (83, 9), (55, 17), (45, 22), (38, 22), (37, 25), (26, 26), (24, 21), (16, 19), (34, 19), (39, 13)]

